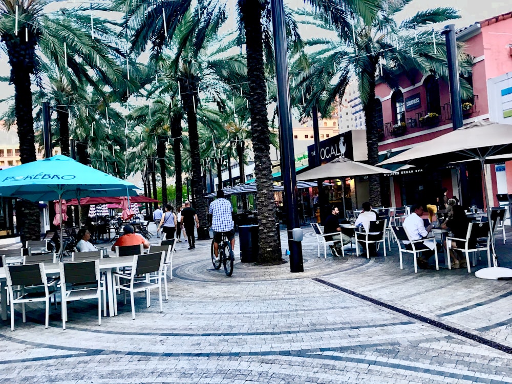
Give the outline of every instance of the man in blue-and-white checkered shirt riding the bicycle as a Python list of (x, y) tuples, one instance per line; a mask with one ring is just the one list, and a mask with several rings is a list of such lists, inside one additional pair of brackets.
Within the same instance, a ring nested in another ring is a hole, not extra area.
[(219, 244), (222, 242), (222, 234), (225, 233), (231, 243), (231, 257), (234, 259), (234, 230), (231, 212), (231, 202), (224, 198), (224, 191), (217, 191), (217, 199), (210, 204), (209, 212), (212, 215), (211, 229), (214, 231), (214, 254), (215, 261), (219, 262)]

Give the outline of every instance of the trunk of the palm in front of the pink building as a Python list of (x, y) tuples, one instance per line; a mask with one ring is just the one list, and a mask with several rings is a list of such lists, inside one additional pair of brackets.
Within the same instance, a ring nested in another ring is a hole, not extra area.
[[(369, 69), (369, 73), (375, 74), (377, 68), (377, 61), (372, 61), (372, 68)], [(377, 132), (377, 124), (375, 120), (375, 75), (368, 81), (369, 87), (369, 98), (368, 101), (363, 103), (362, 109), (365, 111), (365, 122), (366, 122), (366, 143), (368, 147), (368, 163), (375, 165), (379, 162), (379, 138)], [(381, 206), (380, 199), (380, 177), (378, 175), (371, 175), (368, 177), (368, 186), (370, 192), (370, 204), (374, 207)]]

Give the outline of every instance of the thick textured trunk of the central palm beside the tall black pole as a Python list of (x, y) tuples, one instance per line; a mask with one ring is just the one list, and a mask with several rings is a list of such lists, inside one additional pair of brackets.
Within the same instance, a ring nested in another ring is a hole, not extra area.
[(272, 190), (272, 163), (270, 161), (270, 133), (268, 130), (265, 68), (263, 61), (262, 11), (260, 0), (239, 0), (241, 19), (245, 27), (247, 76), (249, 80), (249, 109), (256, 176), (256, 200), (260, 263), (275, 263), (282, 259), (280, 239), (275, 227), (275, 203)]

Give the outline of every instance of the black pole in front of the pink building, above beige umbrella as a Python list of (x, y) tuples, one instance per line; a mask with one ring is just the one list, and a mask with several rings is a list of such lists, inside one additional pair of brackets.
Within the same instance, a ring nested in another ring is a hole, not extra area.
[(442, 33), (446, 39), (448, 81), (450, 84), (450, 101), (452, 103), (452, 124), (453, 129), (456, 130), (462, 126), (462, 99), (460, 96), (459, 62), (457, 60), (455, 24), (445, 26)]

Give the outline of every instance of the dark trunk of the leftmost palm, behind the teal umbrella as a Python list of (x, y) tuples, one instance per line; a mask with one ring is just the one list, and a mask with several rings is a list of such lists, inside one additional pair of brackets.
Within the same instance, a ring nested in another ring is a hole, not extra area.
[[(14, 105), (16, 125), (19, 139), (19, 157), (22, 164), (36, 160), (34, 141), (34, 119), (32, 117), (32, 91), (30, 74), (34, 73), (35, 38), (29, 41), (12, 34), (2, 35), (2, 41), (7, 47), (11, 65), (10, 81), (14, 84)], [(20, 240), (40, 240), (41, 223), (39, 221), (39, 206), (23, 201), (19, 216)]]

